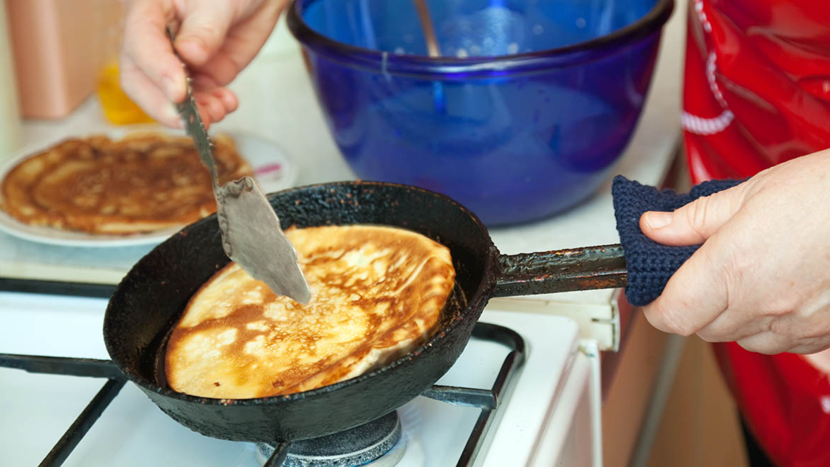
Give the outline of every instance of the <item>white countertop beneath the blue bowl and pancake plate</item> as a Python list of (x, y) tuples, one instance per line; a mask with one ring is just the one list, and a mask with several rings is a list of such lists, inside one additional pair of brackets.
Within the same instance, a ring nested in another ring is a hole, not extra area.
[[(680, 136), (681, 57), (686, 17), (676, 7), (663, 35), (657, 71), (636, 133), (615, 173), (656, 185), (662, 182)], [(354, 179), (325, 128), (298, 48), (284, 23), (266, 49), (232, 89), (240, 107), (215, 129), (245, 132), (271, 139), (284, 148), (300, 169), (300, 185)], [(24, 144), (106, 129), (93, 97), (56, 121), (26, 121)], [(549, 251), (618, 242), (613, 217), (611, 178), (588, 201), (544, 221), (491, 231), (502, 253)], [(68, 248), (45, 246), (0, 233), (0, 277), (115, 284), (150, 246)], [(613, 290), (540, 295), (520, 300), (604, 304)]]

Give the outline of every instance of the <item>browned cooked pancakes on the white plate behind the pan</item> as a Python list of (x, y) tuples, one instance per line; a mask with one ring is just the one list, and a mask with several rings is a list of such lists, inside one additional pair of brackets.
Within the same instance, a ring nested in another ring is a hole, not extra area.
[[(231, 139), (214, 139), (222, 182), (251, 175)], [(27, 158), (0, 185), (18, 221), (94, 234), (183, 226), (216, 211), (193, 141), (165, 134), (70, 139)]]

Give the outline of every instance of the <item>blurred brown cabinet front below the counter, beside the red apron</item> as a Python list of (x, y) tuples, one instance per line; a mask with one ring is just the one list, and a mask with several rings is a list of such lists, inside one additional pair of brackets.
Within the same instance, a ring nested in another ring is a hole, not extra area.
[[(627, 347), (603, 401), (606, 467), (631, 465), (666, 350), (667, 335), (652, 328), (640, 310), (631, 325)], [(735, 403), (710, 345), (700, 338), (686, 339), (647, 465), (748, 465)]]

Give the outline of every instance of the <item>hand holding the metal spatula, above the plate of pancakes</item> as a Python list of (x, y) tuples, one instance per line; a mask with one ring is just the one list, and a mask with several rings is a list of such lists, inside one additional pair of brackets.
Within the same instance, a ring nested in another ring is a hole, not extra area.
[(120, 84), (160, 123), (181, 128), (173, 102), (185, 97), (184, 71), (166, 28), (193, 77), (205, 124), (237, 109), (227, 86), (273, 31), (288, 0), (129, 0), (120, 54)]

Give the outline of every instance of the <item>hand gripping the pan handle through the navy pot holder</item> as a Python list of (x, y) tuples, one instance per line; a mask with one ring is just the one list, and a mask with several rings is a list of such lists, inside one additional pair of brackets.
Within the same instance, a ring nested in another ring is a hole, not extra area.
[(769, 168), (640, 227), (703, 246), (645, 307), (656, 328), (759, 353), (830, 348), (830, 150)]

